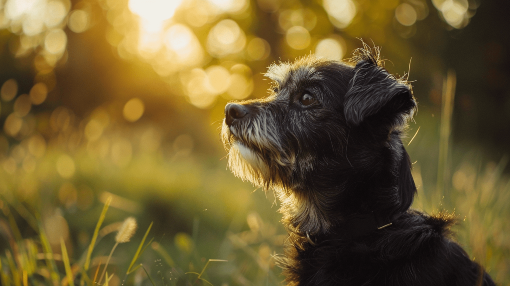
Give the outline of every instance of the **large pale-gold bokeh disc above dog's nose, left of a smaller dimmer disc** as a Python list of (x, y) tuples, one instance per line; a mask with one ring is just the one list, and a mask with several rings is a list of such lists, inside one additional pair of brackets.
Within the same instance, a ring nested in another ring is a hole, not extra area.
[(209, 32), (207, 50), (215, 58), (239, 53), (246, 45), (246, 36), (231, 19), (219, 21)]

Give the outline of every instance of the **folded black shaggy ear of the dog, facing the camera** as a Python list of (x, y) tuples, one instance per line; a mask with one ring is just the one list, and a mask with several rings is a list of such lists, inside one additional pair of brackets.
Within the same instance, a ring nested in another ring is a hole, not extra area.
[(360, 125), (377, 114), (377, 122), (400, 126), (413, 115), (416, 101), (410, 85), (368, 59), (356, 63), (353, 73), (344, 101), (348, 124)]

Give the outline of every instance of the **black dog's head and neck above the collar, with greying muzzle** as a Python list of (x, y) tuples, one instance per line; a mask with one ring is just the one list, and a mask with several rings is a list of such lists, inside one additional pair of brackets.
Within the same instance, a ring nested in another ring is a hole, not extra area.
[(378, 50), (358, 49), (349, 63), (304, 57), (266, 76), (269, 96), (227, 104), (222, 139), (234, 174), (275, 190), (293, 230), (327, 232), (352, 214), (410, 206), (400, 134), (416, 101)]

